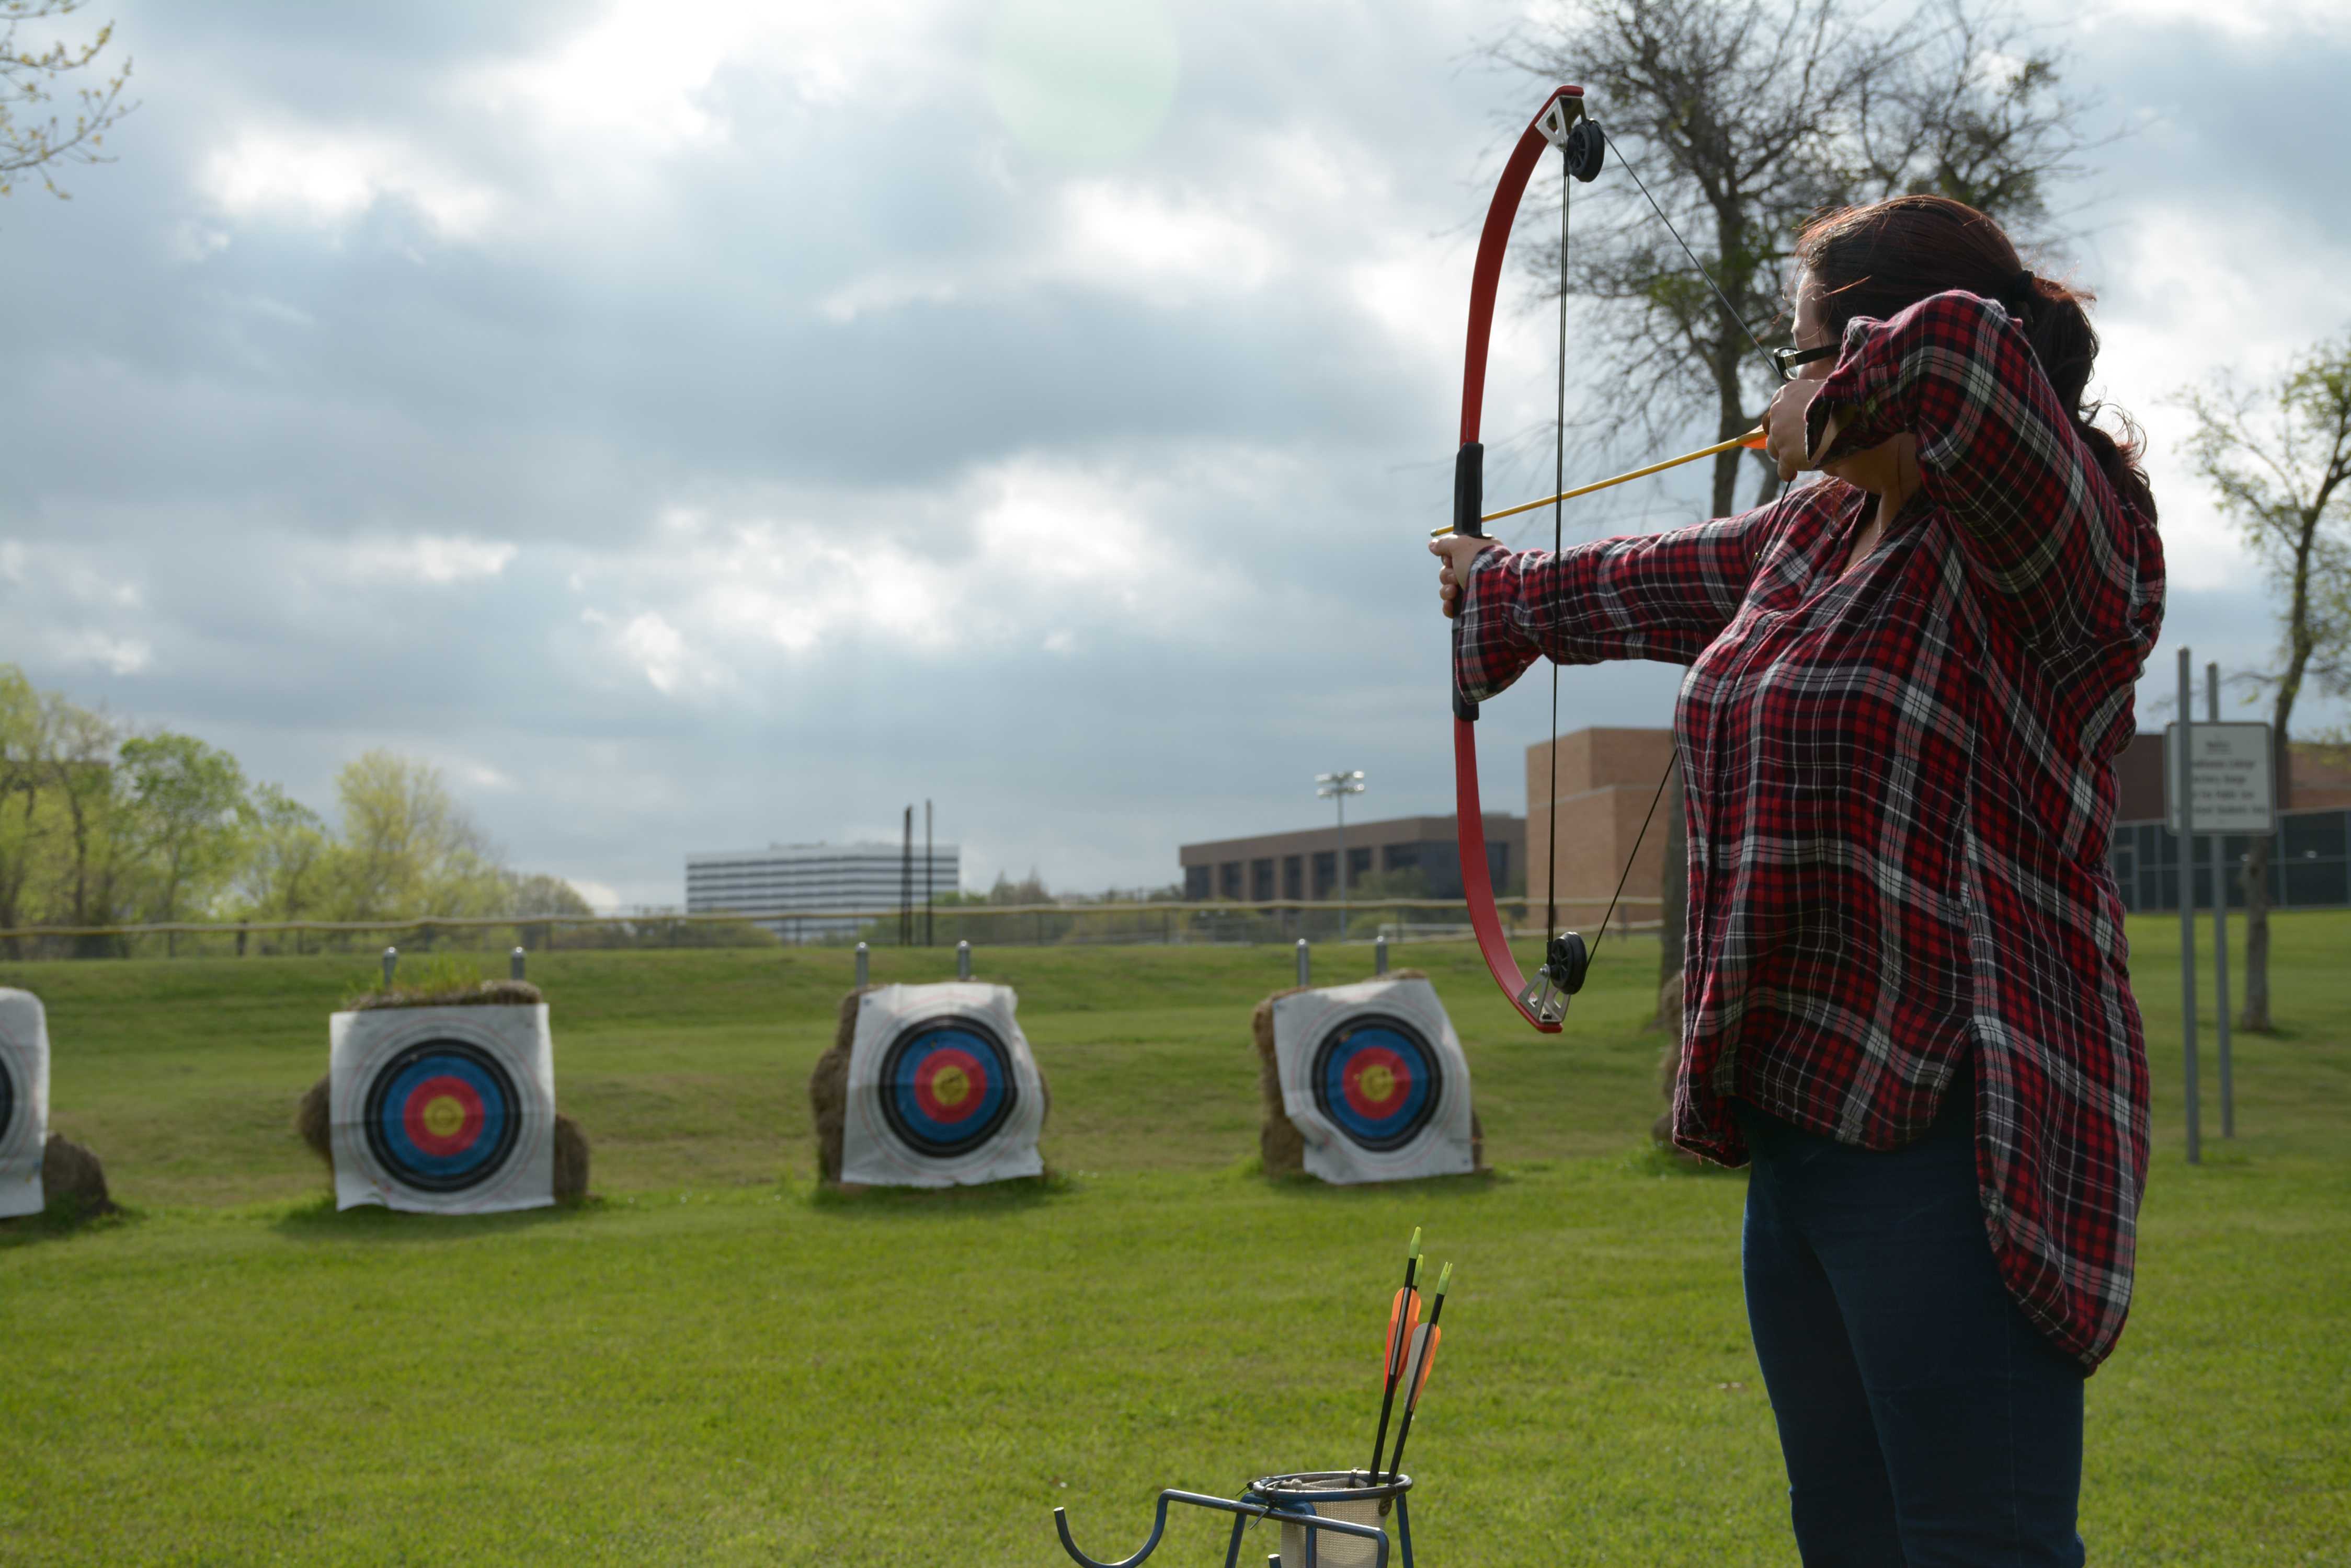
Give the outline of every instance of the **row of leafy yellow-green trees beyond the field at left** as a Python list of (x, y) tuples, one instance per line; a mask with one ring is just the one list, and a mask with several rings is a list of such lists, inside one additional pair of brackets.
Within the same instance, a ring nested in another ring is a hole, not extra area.
[[(562, 877), (508, 867), (428, 762), (388, 750), (348, 762), (329, 823), (216, 745), (134, 729), (0, 665), (0, 929), (409, 914), (592, 910)], [(5, 957), (122, 950), (118, 936), (0, 945)]]

